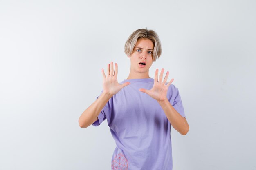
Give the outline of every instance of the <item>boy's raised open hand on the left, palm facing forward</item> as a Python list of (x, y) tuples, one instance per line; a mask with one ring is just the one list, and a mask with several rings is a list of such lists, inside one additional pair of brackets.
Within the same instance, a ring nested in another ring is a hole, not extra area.
[(113, 69), (113, 62), (108, 64), (107, 76), (104, 73), (104, 69), (101, 69), (103, 75), (103, 94), (105, 95), (115, 95), (122, 88), (129, 85), (130, 82), (125, 82), (124, 84), (119, 84), (117, 82), (117, 63), (115, 63), (115, 72)]

